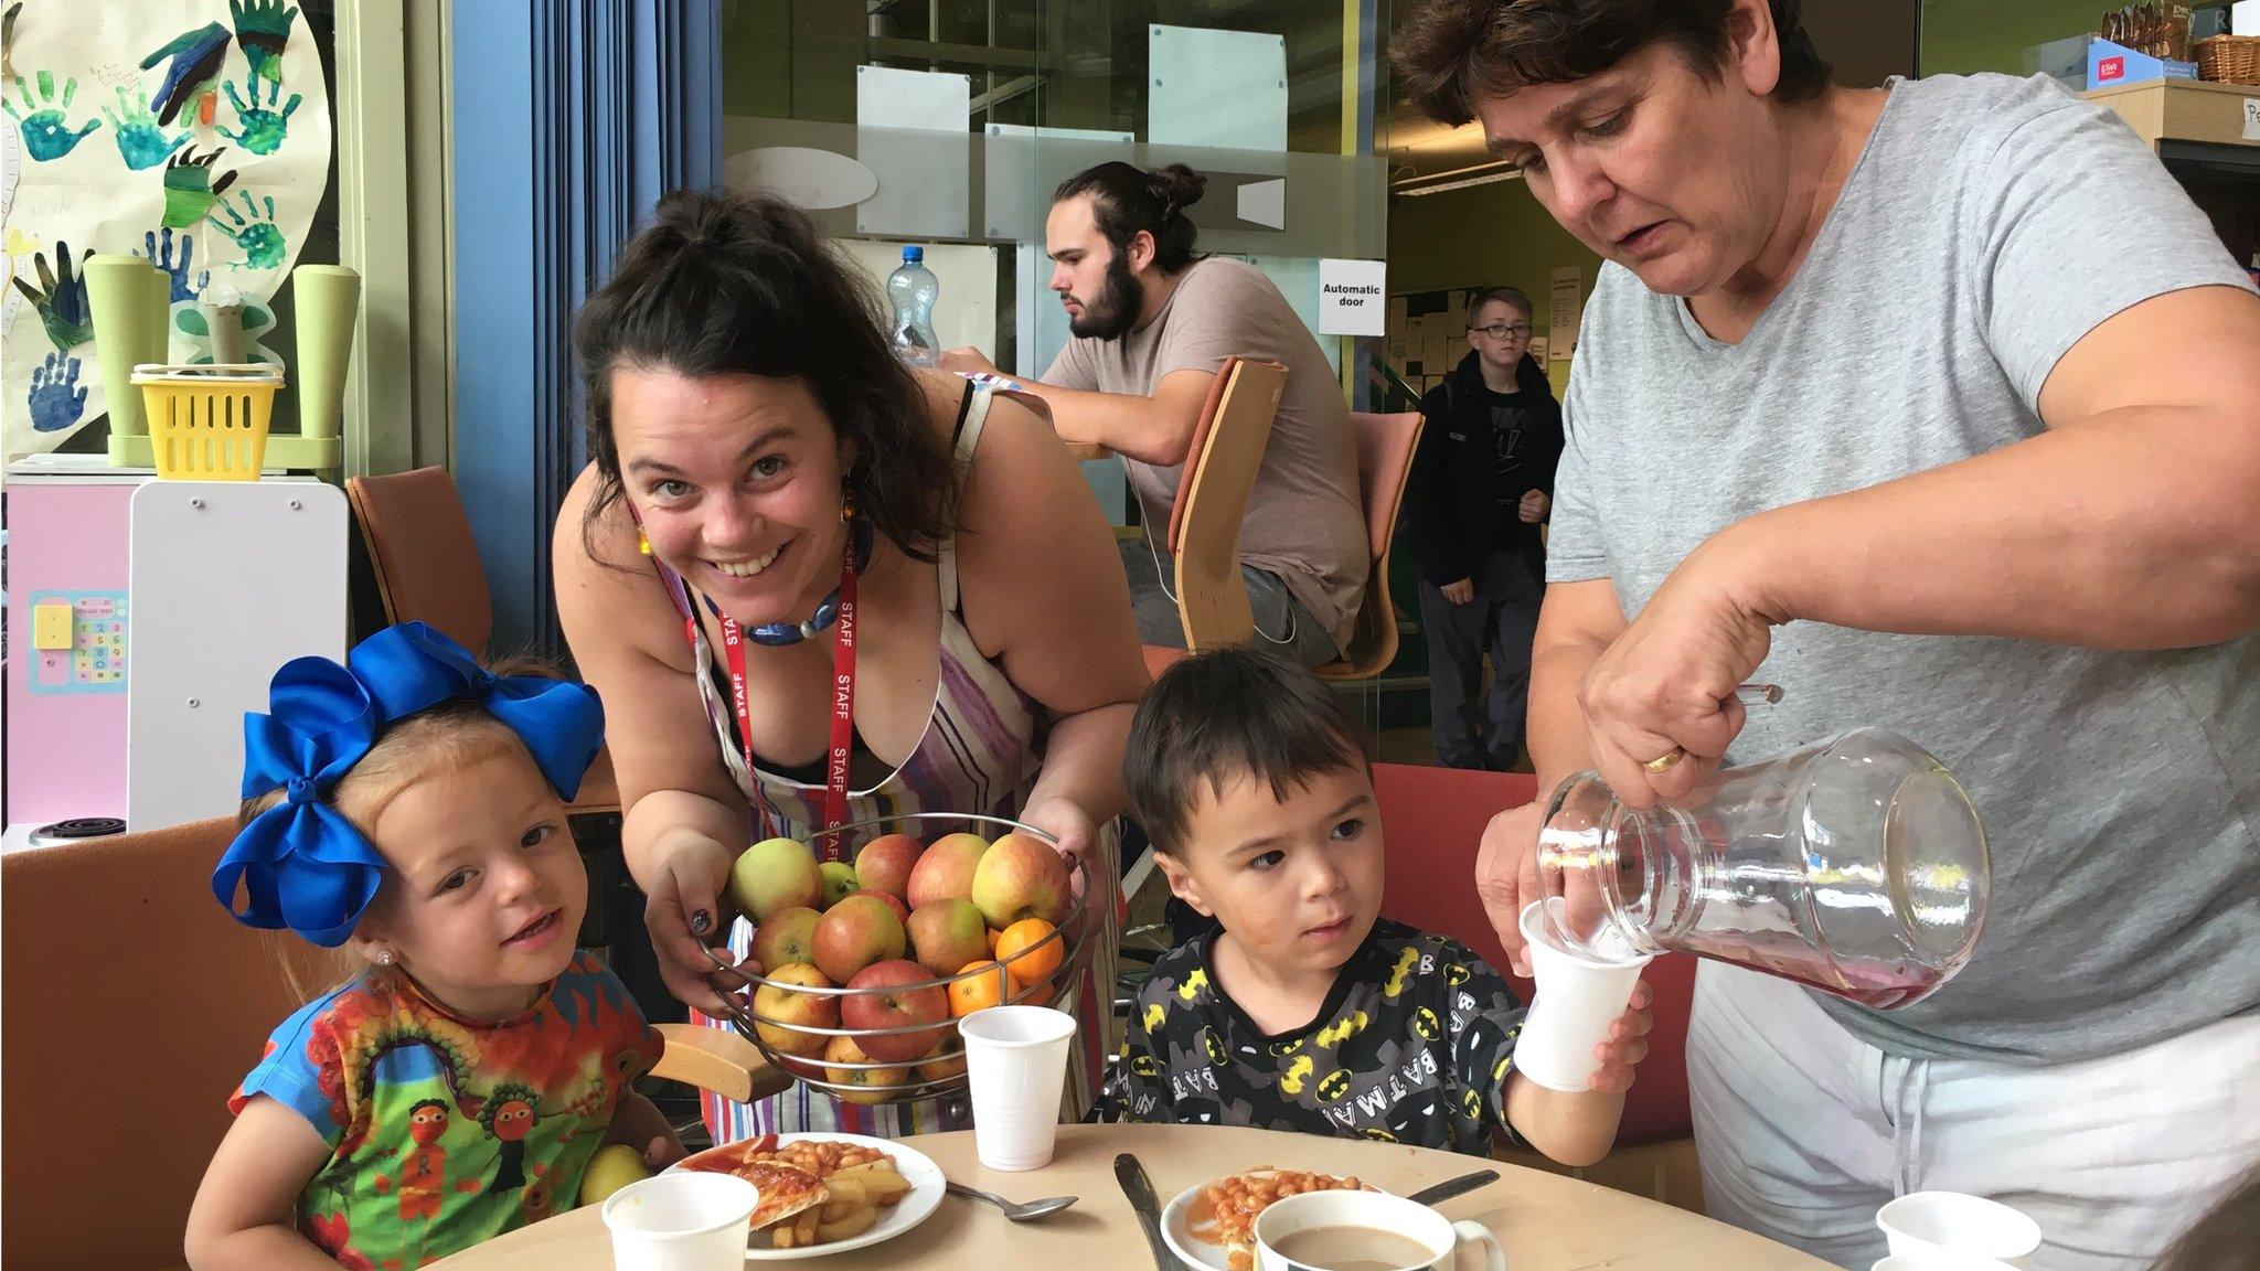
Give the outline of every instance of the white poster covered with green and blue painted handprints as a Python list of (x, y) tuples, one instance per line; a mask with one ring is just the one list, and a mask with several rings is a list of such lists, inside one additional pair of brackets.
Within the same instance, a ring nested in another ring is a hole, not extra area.
[[(287, 0), (0, 0), (0, 441), (99, 418), (81, 265), (136, 253), (174, 303), (285, 283), (330, 179), (330, 86)], [(253, 305), (264, 310), (264, 305)], [(174, 335), (174, 362), (192, 348)]]

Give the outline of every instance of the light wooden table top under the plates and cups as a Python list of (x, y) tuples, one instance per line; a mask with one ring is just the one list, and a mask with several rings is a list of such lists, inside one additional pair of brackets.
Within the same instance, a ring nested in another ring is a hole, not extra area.
[[(1469, 1169), (1471, 1156), (1385, 1142), (1225, 1126), (1060, 1126), (1060, 1153), (1044, 1169), (997, 1174), (974, 1160), (974, 1135), (904, 1140), (945, 1174), (1015, 1201), (1074, 1194), (1083, 1201), (1033, 1224), (1010, 1224), (994, 1205), (942, 1196), (918, 1228), (870, 1248), (814, 1262), (820, 1271), (886, 1266), (1010, 1266), (1024, 1271), (1153, 1271), (1130, 1201), (1114, 1185), (1114, 1153), (1146, 1162), (1166, 1205), (1196, 1183), (1257, 1165), (1356, 1174), (1390, 1192), (1412, 1192)], [(1826, 1262), (1686, 1210), (1593, 1183), (1494, 1162), (1501, 1181), (1455, 1201), (1451, 1219), (1474, 1219), (1507, 1246), (1514, 1271), (1828, 1271)], [(434, 1262), (447, 1271), (612, 1271), (612, 1242), (594, 1205), (490, 1239)], [(748, 1266), (766, 1266), (753, 1262)], [(796, 1262), (798, 1266), (798, 1262)]]

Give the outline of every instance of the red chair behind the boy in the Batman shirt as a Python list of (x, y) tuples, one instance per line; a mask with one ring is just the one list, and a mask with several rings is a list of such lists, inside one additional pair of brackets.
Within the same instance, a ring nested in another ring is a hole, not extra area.
[[(1530, 1002), (1532, 984), (1507, 970), (1505, 948), (1483, 911), (1474, 875), (1476, 846), (1492, 814), (1535, 796), (1537, 778), (1528, 773), (1374, 764), (1374, 801), (1381, 805), (1388, 844), (1381, 909), (1476, 950), (1507, 977), (1523, 1002)], [(1625, 1095), (1625, 1122), (1607, 1160), (1568, 1169), (1532, 1149), (1503, 1147), (1494, 1156), (1702, 1212), (1686, 1070), (1695, 959), (1663, 954), (1641, 977), (1654, 993), (1654, 1031), (1648, 1036), (1648, 1058)]]

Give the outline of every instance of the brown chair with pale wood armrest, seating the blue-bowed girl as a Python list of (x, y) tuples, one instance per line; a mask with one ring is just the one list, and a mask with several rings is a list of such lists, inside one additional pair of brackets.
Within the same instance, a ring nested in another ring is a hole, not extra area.
[[(262, 1043), (341, 959), (212, 902), (228, 816), (0, 857), (0, 1264), (181, 1266), (188, 1205)], [(289, 972), (285, 970), (289, 968)], [(741, 1101), (789, 1077), (753, 1043), (660, 1024), (655, 1077)]]

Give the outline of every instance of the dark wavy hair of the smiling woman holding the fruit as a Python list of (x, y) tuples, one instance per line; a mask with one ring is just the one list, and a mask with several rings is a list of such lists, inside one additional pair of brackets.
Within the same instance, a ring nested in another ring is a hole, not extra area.
[(802, 380), (832, 430), (854, 441), (845, 493), (872, 529), (918, 561), (933, 561), (956, 531), (956, 461), (927, 425), (924, 389), (888, 346), (875, 289), (777, 199), (694, 190), (660, 199), (612, 278), (581, 305), (572, 344), (599, 475), (583, 541), (621, 500), (612, 371), (624, 366)]

